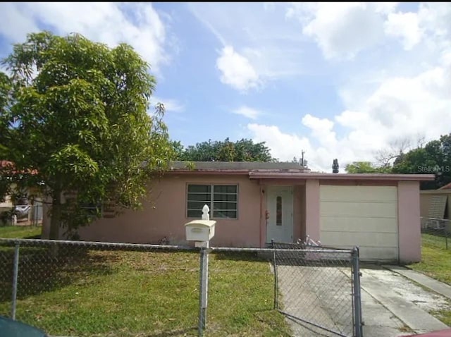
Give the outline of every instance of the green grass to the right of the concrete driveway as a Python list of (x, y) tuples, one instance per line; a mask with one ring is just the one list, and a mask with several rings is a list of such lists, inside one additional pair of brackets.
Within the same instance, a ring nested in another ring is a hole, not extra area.
[[(409, 268), (451, 285), (451, 245), (450, 249), (445, 249), (445, 238), (421, 234), (421, 262), (411, 264)], [(450, 310), (438, 310), (431, 314), (451, 326)]]

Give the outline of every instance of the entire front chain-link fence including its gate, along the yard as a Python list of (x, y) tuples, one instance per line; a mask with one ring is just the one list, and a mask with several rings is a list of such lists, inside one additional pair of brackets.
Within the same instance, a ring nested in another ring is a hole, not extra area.
[(299, 336), (362, 336), (358, 252), (298, 248), (0, 238), (0, 314), (55, 336), (286, 336), (282, 312)]

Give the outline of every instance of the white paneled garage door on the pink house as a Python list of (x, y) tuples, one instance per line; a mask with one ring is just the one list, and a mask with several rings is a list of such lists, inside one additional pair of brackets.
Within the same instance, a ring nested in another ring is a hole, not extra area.
[(362, 259), (398, 259), (395, 186), (320, 186), (321, 243), (360, 247)]

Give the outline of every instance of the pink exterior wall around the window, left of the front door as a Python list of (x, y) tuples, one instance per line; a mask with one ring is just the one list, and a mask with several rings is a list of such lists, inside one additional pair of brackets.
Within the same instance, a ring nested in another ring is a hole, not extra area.
[[(214, 246), (259, 247), (261, 238), (260, 186), (243, 176), (165, 176), (154, 185), (142, 210), (127, 210), (111, 219), (99, 219), (80, 228), (82, 240), (125, 243), (158, 243), (163, 237), (170, 244), (186, 244), (187, 184), (238, 184), (238, 219), (216, 219)], [(213, 219), (211, 217), (211, 219)]]

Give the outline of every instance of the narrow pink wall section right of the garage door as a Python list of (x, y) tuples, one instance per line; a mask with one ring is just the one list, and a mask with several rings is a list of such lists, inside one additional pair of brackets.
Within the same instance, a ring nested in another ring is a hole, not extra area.
[(400, 181), (397, 185), (397, 212), (400, 262), (421, 260), (419, 182)]

